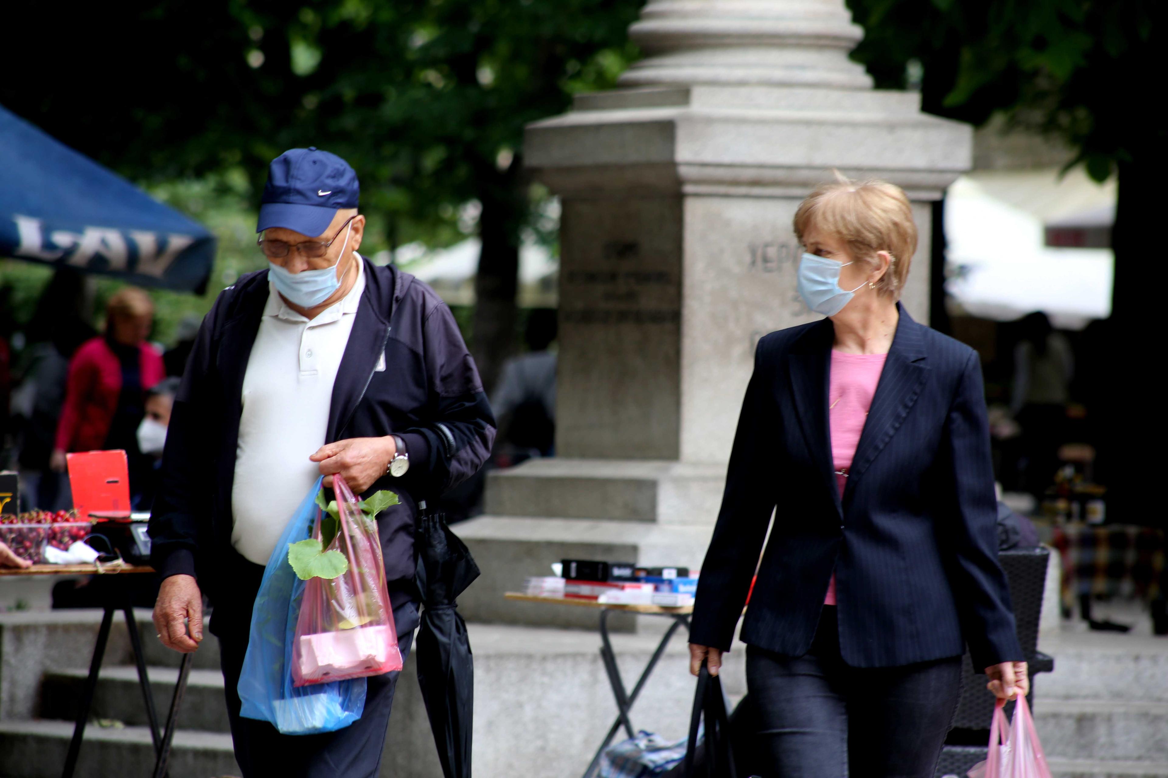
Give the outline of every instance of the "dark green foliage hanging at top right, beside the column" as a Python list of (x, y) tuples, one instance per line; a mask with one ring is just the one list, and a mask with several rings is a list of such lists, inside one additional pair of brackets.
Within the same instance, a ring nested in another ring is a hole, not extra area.
[[(1003, 112), (1059, 135), (1097, 180), (1147, 153), (1135, 126), (1162, 71), (1153, 42), (1156, 0), (849, 0), (865, 36), (853, 57), (877, 86), (903, 89), (924, 66), (926, 111), (974, 124)], [(1133, 111), (1136, 113), (1133, 114)], [(1163, 142), (1162, 125), (1154, 131)]]

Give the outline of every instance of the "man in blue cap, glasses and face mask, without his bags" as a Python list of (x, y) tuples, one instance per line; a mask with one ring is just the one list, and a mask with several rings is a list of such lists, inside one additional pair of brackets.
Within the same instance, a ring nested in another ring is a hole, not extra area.
[[(361, 719), (280, 735), (239, 716), (251, 609), (290, 516), (315, 479), (396, 492), (377, 517), (398, 645), (409, 652), (417, 504), (473, 475), (494, 419), (450, 309), (426, 285), (357, 250), (356, 174), (314, 147), (272, 161), (259, 209), (265, 271), (224, 289), (174, 399), (150, 534), (167, 646), (202, 640), (215, 607), (236, 761), (253, 776), (377, 775), (397, 673), (368, 679)], [(189, 623), (189, 629), (187, 626)]]

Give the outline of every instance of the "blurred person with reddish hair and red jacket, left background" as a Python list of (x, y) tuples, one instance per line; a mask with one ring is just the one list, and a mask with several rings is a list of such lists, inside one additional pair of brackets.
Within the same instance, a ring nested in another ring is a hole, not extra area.
[(162, 357), (146, 342), (154, 303), (145, 292), (120, 289), (105, 311), (105, 334), (82, 345), (69, 363), (49, 467), (63, 472), (67, 451), (124, 449), (130, 483), (134, 483), (144, 464), (138, 425), (145, 415), (146, 390), (162, 380), (166, 371)]

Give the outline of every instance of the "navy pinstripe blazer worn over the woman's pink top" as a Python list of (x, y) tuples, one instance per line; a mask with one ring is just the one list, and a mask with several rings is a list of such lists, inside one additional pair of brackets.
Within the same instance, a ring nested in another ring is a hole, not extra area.
[(834, 569), (851, 666), (955, 657), (966, 643), (979, 671), (1024, 659), (997, 563), (978, 355), (899, 310), (842, 499), (827, 415), (830, 320), (759, 342), (691, 643), (730, 649), (774, 510), (744, 643), (805, 654)]

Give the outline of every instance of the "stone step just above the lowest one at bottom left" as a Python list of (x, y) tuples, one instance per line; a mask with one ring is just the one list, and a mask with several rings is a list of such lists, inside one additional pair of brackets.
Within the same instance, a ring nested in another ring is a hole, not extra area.
[[(166, 724), (174, 684), (179, 671), (173, 667), (147, 667), (154, 694), (154, 710), (159, 726)], [(54, 670), (44, 674), (41, 686), (41, 717), (72, 721), (77, 717), (88, 670)], [(125, 724), (146, 726), (146, 706), (138, 670), (133, 666), (103, 667), (93, 692), (93, 719), (110, 719)], [(193, 670), (187, 681), (187, 693), (179, 713), (181, 729), (210, 733), (230, 731), (227, 703), (223, 700), (223, 674), (217, 670)]]

